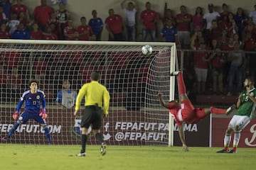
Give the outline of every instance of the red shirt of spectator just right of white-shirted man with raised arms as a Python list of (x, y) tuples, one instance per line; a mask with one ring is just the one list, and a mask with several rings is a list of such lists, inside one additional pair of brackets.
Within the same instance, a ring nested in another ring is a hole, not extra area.
[(156, 28), (155, 20), (157, 17), (158, 14), (153, 10), (144, 10), (140, 15), (144, 27), (148, 30), (154, 30)]

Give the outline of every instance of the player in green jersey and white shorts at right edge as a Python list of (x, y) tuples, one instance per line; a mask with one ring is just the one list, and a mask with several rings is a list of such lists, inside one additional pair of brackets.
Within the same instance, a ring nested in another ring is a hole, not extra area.
[[(238, 102), (236, 103), (237, 111), (228, 124), (228, 128), (224, 137), (224, 149), (217, 153), (235, 153), (240, 140), (240, 132), (245, 126), (250, 123), (255, 113), (256, 106), (256, 89), (254, 81), (246, 78), (244, 81), (245, 89), (240, 93)], [(233, 149), (229, 150), (231, 140), (231, 132), (234, 132)]]

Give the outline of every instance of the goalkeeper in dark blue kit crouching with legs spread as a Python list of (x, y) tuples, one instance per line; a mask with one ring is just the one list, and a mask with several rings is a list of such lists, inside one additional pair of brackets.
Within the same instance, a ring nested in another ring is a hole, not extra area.
[[(46, 133), (46, 137), (49, 144), (52, 144), (52, 140), (50, 137), (50, 130), (48, 129), (46, 125), (46, 98), (43, 91), (38, 89), (38, 81), (31, 80), (29, 82), (29, 88), (30, 90), (25, 91), (22, 96), (21, 100), (18, 102), (18, 106), (16, 108), (16, 112), (12, 116), (14, 120), (17, 120), (16, 123), (14, 123), (14, 126), (9, 131), (8, 135), (5, 137), (2, 137), (2, 142), (6, 142), (6, 140), (9, 140), (11, 138), (11, 135), (15, 132), (15, 130), (18, 128), (19, 125), (27, 123), (29, 119), (36, 120), (36, 122), (40, 123), (40, 125), (43, 127), (43, 130)], [(23, 102), (25, 101), (25, 108), (23, 113), (21, 115), (19, 114), (19, 111), (21, 110), (21, 106), (23, 105)], [(40, 105), (43, 105), (42, 111), (40, 112)]]

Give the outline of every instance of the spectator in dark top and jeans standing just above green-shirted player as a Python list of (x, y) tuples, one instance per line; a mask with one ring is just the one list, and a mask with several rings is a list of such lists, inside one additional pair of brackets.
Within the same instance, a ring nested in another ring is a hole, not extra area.
[(238, 43), (235, 43), (234, 50), (228, 53), (228, 60), (231, 62), (228, 73), (228, 96), (231, 96), (242, 90), (242, 76), (245, 71), (243, 66), (245, 54), (240, 50)]

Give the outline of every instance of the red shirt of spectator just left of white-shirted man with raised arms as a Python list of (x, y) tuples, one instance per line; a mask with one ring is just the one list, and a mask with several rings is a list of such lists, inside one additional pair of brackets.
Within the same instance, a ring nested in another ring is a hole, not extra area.
[(114, 14), (114, 16), (109, 16), (106, 18), (105, 23), (113, 34), (122, 33), (122, 16), (117, 14)]

